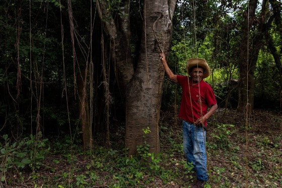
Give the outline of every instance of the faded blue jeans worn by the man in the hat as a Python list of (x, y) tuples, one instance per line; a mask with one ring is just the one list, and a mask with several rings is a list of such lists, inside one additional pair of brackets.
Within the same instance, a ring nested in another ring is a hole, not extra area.
[(192, 170), (197, 173), (197, 179), (207, 181), (205, 130), (202, 126), (194, 126), (183, 121), (183, 150), (187, 164), (193, 164)]

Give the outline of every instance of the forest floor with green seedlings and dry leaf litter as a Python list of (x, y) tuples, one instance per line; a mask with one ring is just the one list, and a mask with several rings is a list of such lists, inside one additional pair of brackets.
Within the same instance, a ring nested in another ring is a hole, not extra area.
[[(248, 119), (235, 110), (218, 109), (207, 128), (205, 187), (282, 187), (282, 117), (255, 110)], [(27, 136), (12, 142), (7, 135), (0, 146), (0, 187), (189, 187), (195, 175), (186, 164), (181, 121), (162, 112), (161, 154), (138, 146), (138, 155), (127, 157), (124, 125), (111, 130), (111, 148), (95, 140), (84, 151), (79, 138), (69, 135), (35, 142)], [(144, 137), (150, 130), (144, 129)], [(40, 135), (39, 135), (40, 136)]]

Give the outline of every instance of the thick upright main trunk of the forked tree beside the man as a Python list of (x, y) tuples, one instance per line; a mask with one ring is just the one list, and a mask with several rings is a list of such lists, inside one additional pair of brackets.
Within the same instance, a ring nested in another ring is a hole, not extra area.
[[(158, 19), (163, 14), (162, 18)], [(149, 152), (159, 153), (159, 118), (164, 69), (159, 57), (159, 48), (154, 37), (161, 41), (167, 52), (172, 37), (172, 21), (168, 4), (164, 1), (145, 1), (142, 43), (135, 73), (126, 90), (126, 135), (128, 155), (136, 154), (136, 146), (150, 144)], [(142, 129), (150, 128), (145, 135)], [(146, 136), (144, 138), (143, 136)]]

